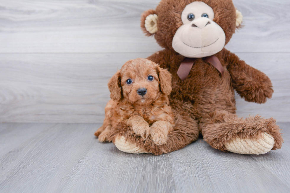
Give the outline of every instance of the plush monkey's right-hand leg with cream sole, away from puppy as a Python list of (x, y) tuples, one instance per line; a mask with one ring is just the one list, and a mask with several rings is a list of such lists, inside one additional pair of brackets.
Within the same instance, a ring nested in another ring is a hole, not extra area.
[(200, 122), (204, 141), (215, 149), (239, 154), (265, 154), (280, 149), (283, 138), (273, 118), (241, 119), (225, 110), (207, 114)]

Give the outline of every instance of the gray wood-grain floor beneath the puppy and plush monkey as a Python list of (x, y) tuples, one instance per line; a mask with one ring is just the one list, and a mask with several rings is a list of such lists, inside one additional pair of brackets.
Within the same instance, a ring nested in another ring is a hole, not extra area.
[[(99, 124), (0, 124), (0, 192), (290, 192), (290, 123), (282, 149), (224, 153), (202, 139), (153, 156), (127, 154)], [(5, 140), (9, 138), (10, 140)]]

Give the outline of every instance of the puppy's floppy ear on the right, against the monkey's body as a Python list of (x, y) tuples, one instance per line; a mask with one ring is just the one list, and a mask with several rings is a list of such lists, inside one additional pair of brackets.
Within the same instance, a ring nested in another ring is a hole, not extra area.
[(171, 93), (172, 87), (171, 87), (171, 80), (172, 75), (168, 70), (160, 68), (160, 66), (157, 64), (156, 71), (158, 73), (158, 77), (160, 80), (160, 89), (162, 93), (169, 95)]

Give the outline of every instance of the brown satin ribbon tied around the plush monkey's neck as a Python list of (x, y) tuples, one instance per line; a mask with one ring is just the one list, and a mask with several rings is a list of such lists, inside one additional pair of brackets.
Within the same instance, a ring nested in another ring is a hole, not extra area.
[[(184, 58), (183, 62), (181, 62), (178, 70), (177, 75), (180, 77), (181, 80), (185, 80), (189, 75), (189, 72), (194, 64), (196, 58)], [(225, 71), (223, 65), (220, 63), (220, 60), (216, 56), (210, 56), (204, 58), (207, 62), (213, 65), (223, 76), (223, 72)]]

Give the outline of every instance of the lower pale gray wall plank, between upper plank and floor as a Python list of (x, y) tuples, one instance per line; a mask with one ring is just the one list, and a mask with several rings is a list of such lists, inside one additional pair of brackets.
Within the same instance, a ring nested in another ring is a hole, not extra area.
[[(265, 72), (274, 95), (265, 104), (236, 95), (237, 114), (260, 114), (288, 122), (290, 57), (288, 53), (239, 53)], [(0, 54), (0, 122), (102, 123), (109, 101), (107, 81), (132, 58), (148, 53)]]

